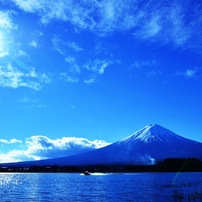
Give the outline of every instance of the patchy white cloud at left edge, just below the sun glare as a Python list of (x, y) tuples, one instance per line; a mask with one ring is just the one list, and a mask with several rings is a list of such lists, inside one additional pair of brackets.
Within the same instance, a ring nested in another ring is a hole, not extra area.
[(23, 72), (11, 64), (0, 66), (0, 87), (27, 87), (40, 90), (42, 84), (49, 82), (50, 77), (44, 73), (37, 73), (35, 68)]

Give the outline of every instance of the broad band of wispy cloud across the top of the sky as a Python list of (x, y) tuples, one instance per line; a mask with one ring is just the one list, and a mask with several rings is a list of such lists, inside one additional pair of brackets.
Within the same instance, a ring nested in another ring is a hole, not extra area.
[[(112, 1), (35, 1), (13, 0), (26, 12), (37, 13), (42, 23), (61, 20), (77, 29), (98, 34), (127, 30), (136, 38), (195, 48), (202, 44), (198, 30), (202, 26), (200, 2), (171, 0)], [(191, 10), (190, 10), (191, 7)], [(194, 40), (195, 39), (195, 40)], [(77, 46), (73, 48), (80, 50)]]

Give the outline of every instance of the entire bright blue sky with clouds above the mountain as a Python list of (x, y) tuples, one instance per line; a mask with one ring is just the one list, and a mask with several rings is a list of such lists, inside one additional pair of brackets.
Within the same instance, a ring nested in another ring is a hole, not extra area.
[(1, 0), (0, 161), (99, 148), (151, 123), (202, 142), (201, 9)]

